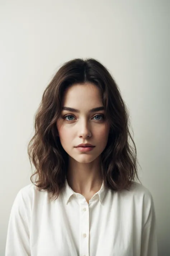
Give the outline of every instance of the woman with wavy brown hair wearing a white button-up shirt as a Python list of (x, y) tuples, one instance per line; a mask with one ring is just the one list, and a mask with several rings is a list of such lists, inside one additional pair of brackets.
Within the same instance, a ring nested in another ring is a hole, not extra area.
[(157, 256), (153, 198), (134, 181), (128, 110), (107, 68), (95, 59), (63, 64), (35, 130), (36, 171), (13, 203), (6, 256)]

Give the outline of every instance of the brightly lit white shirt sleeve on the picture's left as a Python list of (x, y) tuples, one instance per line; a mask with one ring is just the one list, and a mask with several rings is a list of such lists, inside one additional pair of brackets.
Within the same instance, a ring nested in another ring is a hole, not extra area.
[(6, 238), (5, 256), (31, 256), (27, 205), (22, 189), (11, 208)]

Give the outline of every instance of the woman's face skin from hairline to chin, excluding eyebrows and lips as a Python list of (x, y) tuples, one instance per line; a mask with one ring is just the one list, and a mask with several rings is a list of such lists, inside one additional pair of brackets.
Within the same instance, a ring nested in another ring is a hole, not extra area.
[[(77, 112), (62, 110), (57, 120), (63, 149), (77, 162), (94, 161), (107, 145), (110, 128), (109, 123), (104, 120), (104, 110), (90, 112), (92, 108), (103, 107), (98, 87), (94, 84), (70, 86), (65, 91), (63, 107), (77, 109)], [(80, 143), (90, 143), (95, 147), (91, 151), (80, 152), (76, 148)]]

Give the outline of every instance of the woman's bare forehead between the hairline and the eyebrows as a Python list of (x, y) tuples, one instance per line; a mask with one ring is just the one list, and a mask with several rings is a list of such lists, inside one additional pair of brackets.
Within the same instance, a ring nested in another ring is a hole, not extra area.
[[(63, 97), (63, 105), (70, 105), (71, 107), (87, 104), (88, 105), (103, 105), (102, 104), (102, 96), (100, 93), (99, 88), (90, 83), (86, 84), (74, 84), (68, 87), (65, 91), (64, 97)], [(70, 107), (70, 106), (69, 106)]]

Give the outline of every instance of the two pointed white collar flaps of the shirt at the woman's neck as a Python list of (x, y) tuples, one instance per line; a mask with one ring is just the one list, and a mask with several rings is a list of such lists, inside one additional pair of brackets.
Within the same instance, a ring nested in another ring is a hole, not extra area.
[[(77, 194), (77, 193), (75, 193), (75, 192), (72, 190), (72, 188), (69, 186), (67, 179), (65, 180), (65, 187), (64, 187), (62, 193), (63, 193), (64, 202), (65, 202), (66, 205), (69, 203), (69, 199), (70, 199), (73, 195), (76, 195), (76, 194)], [(104, 181), (103, 181), (100, 190), (95, 193), (95, 194), (98, 195), (100, 203), (102, 203), (105, 193), (106, 193), (106, 188), (105, 188), (105, 186), (104, 186)]]

